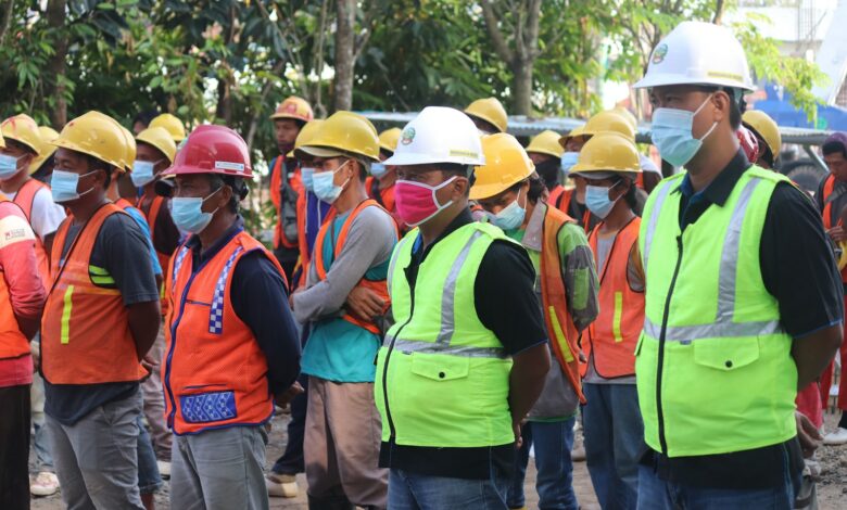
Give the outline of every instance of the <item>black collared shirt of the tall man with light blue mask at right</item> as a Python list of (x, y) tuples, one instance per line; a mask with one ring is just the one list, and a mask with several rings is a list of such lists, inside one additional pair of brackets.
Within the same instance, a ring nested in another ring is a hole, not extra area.
[[(704, 190), (694, 192), (688, 176), (681, 193), (680, 228), (696, 222), (711, 206), (722, 207), (750, 163), (743, 152)], [(764, 286), (778, 301), (783, 327), (796, 341), (844, 318), (840, 276), (821, 215), (802, 191), (780, 183), (771, 195), (759, 247)], [(647, 282), (649, 284), (649, 282)], [(802, 470), (797, 438), (746, 451), (667, 458), (649, 450), (643, 463), (662, 480), (710, 488), (766, 488), (784, 483), (786, 470)]]

